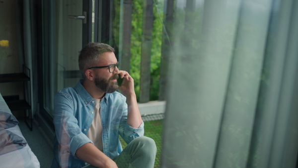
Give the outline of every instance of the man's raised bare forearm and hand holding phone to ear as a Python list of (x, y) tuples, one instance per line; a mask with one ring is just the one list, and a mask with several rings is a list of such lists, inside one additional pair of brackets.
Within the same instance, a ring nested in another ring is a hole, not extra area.
[(127, 123), (133, 128), (139, 128), (142, 124), (142, 117), (137, 103), (134, 79), (126, 71), (120, 72), (121, 78), (124, 77), (120, 91), (126, 96), (126, 102), (128, 105)]

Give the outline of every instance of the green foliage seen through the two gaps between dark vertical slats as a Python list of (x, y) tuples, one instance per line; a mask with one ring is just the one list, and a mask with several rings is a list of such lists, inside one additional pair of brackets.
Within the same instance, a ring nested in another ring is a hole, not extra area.
[[(159, 15), (162, 18), (163, 1), (156, 0)], [(142, 52), (142, 28), (143, 28), (143, 0), (133, 0), (132, 12), (132, 36), (131, 36), (131, 70), (130, 74), (135, 81), (135, 92), (137, 99), (140, 96), (140, 68)], [(159, 66), (162, 43), (162, 23), (156, 8), (153, 8), (153, 28), (151, 46), (151, 66), (150, 66), (150, 100), (158, 99), (159, 90)], [(125, 33), (125, 32), (124, 32)]]

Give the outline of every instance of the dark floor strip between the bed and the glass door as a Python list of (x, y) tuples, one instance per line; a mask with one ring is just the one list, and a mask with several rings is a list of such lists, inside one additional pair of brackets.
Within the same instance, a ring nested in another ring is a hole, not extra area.
[(37, 126), (33, 123), (33, 130), (30, 131), (23, 118), (17, 118), (18, 126), (25, 137), (32, 152), (36, 155), (40, 168), (51, 168), (53, 160), (53, 147), (51, 147)]

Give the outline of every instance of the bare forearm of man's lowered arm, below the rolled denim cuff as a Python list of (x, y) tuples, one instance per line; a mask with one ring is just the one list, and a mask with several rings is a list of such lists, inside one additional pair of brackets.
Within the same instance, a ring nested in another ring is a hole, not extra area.
[(75, 156), (97, 168), (118, 168), (116, 163), (98, 150), (92, 143), (79, 147)]

